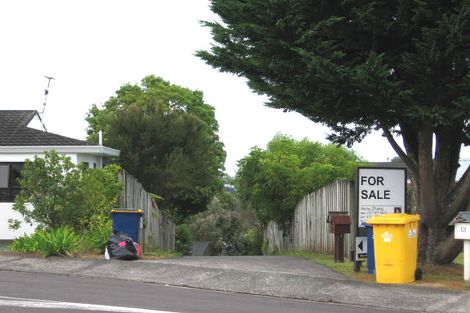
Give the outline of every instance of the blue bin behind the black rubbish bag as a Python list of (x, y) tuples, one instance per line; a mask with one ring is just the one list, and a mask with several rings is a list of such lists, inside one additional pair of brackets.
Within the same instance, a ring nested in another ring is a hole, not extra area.
[(126, 233), (132, 240), (139, 242), (140, 219), (144, 211), (135, 209), (113, 209), (111, 216), (113, 231)]

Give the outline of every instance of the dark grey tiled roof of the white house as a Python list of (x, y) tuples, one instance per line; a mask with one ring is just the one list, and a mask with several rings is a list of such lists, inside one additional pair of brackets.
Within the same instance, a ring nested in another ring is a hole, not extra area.
[(88, 142), (28, 127), (35, 110), (0, 110), (0, 146), (89, 146)]

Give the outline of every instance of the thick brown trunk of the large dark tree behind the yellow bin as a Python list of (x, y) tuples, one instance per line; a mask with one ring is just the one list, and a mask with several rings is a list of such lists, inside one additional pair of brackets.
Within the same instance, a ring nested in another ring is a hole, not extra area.
[[(435, 129), (425, 123), (403, 124), (400, 127), (406, 154), (401, 150), (397, 153), (406, 159), (405, 163), (411, 172), (416, 211), (421, 215), (419, 260), (426, 263), (450, 263), (462, 251), (462, 243), (453, 239), (453, 228), (449, 222), (458, 211), (467, 209), (470, 201), (470, 171), (466, 172), (461, 181), (455, 181), (459, 167), (461, 128)], [(397, 150), (398, 145), (393, 144), (390, 132), (387, 138)]]

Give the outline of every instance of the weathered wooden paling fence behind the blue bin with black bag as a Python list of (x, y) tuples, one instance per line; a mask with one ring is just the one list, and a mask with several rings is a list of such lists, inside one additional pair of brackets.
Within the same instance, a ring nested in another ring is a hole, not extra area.
[(175, 224), (158, 208), (137, 179), (125, 171), (121, 171), (119, 178), (124, 184), (120, 206), (144, 211), (144, 227), (140, 232), (144, 251), (157, 248), (174, 250)]

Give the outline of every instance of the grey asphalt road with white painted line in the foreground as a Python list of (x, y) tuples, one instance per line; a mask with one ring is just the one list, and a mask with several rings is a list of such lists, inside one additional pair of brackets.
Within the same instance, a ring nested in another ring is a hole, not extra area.
[(393, 313), (403, 311), (223, 293), (113, 279), (0, 271), (0, 312)]

